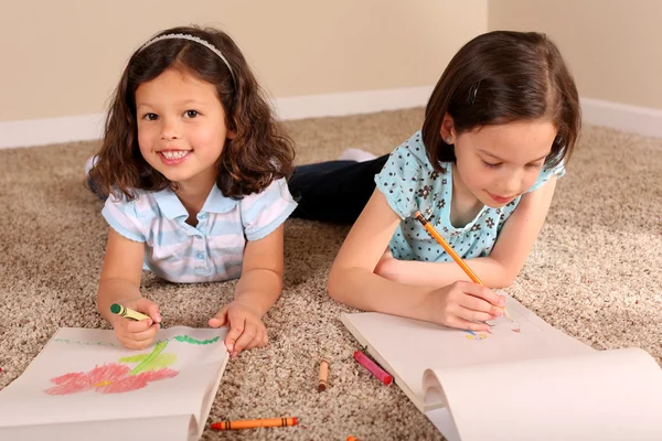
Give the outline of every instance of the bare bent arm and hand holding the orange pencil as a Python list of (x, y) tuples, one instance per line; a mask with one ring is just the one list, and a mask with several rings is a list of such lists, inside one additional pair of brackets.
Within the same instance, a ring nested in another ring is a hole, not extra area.
[(399, 217), (375, 190), (350, 230), (329, 275), (329, 294), (341, 303), (448, 326), (483, 331), (501, 314), (503, 299), (484, 287), (458, 282), (440, 289), (405, 284), (374, 273)]

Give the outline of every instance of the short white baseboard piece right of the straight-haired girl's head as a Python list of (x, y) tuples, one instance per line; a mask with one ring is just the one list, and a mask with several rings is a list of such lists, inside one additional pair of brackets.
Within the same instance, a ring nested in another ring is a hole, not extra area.
[(662, 138), (662, 110), (581, 98), (583, 121), (647, 137)]

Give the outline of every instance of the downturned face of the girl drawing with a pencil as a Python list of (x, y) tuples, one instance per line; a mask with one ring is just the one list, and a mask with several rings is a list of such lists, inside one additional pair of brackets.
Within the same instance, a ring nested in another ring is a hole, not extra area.
[[(446, 121), (445, 121), (446, 123)], [(446, 123), (448, 129), (452, 127)], [(456, 185), (466, 187), (483, 205), (502, 207), (525, 193), (538, 178), (556, 137), (548, 120), (515, 121), (449, 135), (455, 143)]]

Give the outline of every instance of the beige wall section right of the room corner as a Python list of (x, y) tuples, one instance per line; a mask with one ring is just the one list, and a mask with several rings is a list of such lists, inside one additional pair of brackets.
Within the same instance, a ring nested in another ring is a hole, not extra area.
[(546, 32), (579, 95), (662, 109), (662, 1), (490, 0), (489, 29)]

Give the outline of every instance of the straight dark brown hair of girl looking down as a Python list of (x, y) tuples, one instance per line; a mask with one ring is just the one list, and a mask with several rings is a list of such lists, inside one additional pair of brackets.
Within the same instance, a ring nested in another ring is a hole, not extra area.
[(494, 31), (477, 36), (452, 57), (428, 101), (423, 142), (433, 165), (455, 162), (441, 139), (444, 116), (457, 133), (484, 126), (547, 119), (557, 135), (546, 166), (566, 161), (581, 129), (575, 80), (558, 47), (536, 32)]

